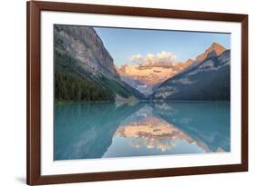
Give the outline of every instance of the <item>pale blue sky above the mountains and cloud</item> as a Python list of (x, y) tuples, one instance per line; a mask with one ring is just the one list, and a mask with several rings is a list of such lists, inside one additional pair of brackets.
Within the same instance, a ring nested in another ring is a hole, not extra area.
[(118, 66), (138, 63), (131, 60), (132, 56), (139, 58), (139, 62), (147, 56), (171, 56), (173, 61), (183, 62), (203, 53), (214, 42), (230, 49), (230, 34), (94, 28)]

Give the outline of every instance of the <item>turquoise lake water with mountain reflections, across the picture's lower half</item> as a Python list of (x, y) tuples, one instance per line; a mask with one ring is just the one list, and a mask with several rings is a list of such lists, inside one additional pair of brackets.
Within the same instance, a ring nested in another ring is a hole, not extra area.
[(55, 106), (55, 160), (230, 152), (229, 102)]

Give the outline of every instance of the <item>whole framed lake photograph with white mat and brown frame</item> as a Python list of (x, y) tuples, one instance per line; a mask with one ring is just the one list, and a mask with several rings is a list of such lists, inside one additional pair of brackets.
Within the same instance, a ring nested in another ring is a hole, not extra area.
[(248, 15), (27, 2), (27, 184), (248, 170)]

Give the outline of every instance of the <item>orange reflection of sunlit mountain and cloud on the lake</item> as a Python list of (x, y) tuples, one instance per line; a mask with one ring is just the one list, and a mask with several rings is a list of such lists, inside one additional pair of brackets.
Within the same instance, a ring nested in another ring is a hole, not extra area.
[[(116, 135), (131, 138), (128, 144), (135, 148), (145, 146), (148, 149), (159, 149), (162, 152), (170, 150), (179, 140), (193, 142), (189, 135), (180, 131), (173, 124), (153, 116), (118, 127)], [(142, 141), (136, 141), (135, 139), (141, 139)]]

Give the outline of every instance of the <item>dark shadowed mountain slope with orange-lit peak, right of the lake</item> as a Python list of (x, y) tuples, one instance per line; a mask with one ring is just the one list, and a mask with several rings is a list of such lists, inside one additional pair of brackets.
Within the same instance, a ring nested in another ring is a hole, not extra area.
[(230, 50), (212, 44), (194, 64), (159, 84), (151, 99), (230, 100)]

